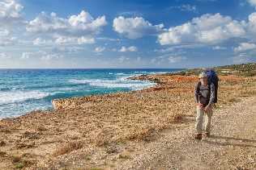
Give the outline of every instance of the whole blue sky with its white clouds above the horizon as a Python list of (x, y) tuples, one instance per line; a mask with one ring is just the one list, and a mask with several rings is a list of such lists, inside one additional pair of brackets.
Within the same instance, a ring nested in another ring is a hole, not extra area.
[(256, 0), (0, 0), (0, 68), (256, 61)]

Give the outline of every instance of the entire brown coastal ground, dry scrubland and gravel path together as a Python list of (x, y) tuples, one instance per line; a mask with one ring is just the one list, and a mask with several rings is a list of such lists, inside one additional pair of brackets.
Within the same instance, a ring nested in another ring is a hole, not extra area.
[(212, 137), (194, 140), (194, 76), (57, 101), (0, 121), (0, 169), (255, 169), (256, 77), (220, 77)]

